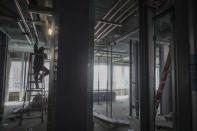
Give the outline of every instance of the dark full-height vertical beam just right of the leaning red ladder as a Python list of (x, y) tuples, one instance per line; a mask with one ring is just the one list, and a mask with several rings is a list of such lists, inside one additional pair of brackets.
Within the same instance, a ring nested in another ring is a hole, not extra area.
[(174, 43), (172, 44), (175, 131), (192, 131), (188, 24), (188, 1), (175, 0)]

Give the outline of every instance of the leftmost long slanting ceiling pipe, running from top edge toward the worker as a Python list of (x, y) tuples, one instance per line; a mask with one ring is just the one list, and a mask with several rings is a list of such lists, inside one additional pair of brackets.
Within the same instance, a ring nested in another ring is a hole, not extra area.
[[(28, 24), (27, 24), (27, 22), (26, 22), (26, 20), (25, 20), (25, 17), (23, 16), (21, 7), (20, 7), (20, 5), (19, 5), (19, 3), (18, 3), (17, 0), (14, 0), (14, 2), (15, 2), (15, 4), (16, 4), (18, 13), (19, 13), (19, 15), (20, 15), (20, 18), (21, 18), (23, 24), (25, 25), (25, 29), (26, 29), (26, 30), (23, 29), (23, 27), (22, 27), (21, 24), (19, 24), (20, 22), (18, 22), (18, 25), (19, 25), (21, 31), (22, 31), (23, 33), (25, 33), (26, 35), (27, 35), (27, 33), (28, 33), (28, 34), (30, 35), (30, 37), (31, 37), (31, 41), (33, 41), (33, 36), (32, 36), (32, 34), (31, 34), (30, 28), (29, 28), (29, 26), (28, 26)], [(22, 28), (21, 28), (21, 27), (22, 27)], [(26, 38), (27, 38), (27, 36), (26, 36)], [(29, 37), (28, 37), (28, 38), (29, 38)], [(29, 44), (32, 44), (32, 42), (30, 41), (30, 39), (27, 39), (27, 41), (29, 42)]]

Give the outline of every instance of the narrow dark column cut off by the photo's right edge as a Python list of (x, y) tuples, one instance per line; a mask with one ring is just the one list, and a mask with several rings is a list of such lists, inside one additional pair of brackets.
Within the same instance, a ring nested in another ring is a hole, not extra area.
[(197, 130), (197, 16), (196, 1), (189, 0), (190, 69), (192, 87), (193, 131)]

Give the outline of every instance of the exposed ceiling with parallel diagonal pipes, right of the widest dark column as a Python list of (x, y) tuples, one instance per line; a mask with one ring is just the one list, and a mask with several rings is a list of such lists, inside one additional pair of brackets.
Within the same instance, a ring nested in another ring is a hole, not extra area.
[[(158, 15), (171, 7), (172, 3), (173, 0), (152, 0), (151, 6), (157, 7)], [(113, 45), (113, 60), (128, 64), (129, 41), (139, 40), (137, 0), (96, 0), (95, 5), (95, 63), (98, 63), (98, 58), (106, 63)], [(170, 19), (167, 14), (155, 21), (155, 35), (160, 44), (170, 41)]]

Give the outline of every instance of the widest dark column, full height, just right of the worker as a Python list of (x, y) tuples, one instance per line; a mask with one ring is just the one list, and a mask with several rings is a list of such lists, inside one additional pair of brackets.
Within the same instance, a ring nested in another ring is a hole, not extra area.
[[(56, 131), (92, 131), (92, 0), (55, 0), (58, 24)], [(91, 105), (88, 105), (91, 104)]]

